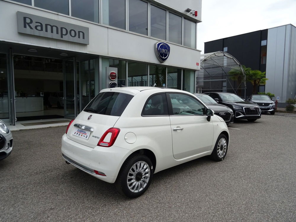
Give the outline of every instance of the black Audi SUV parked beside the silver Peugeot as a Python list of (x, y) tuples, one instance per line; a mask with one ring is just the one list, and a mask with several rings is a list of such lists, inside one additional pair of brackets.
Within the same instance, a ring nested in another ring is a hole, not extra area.
[(207, 92), (204, 93), (215, 99), (219, 104), (228, 106), (234, 112), (234, 119), (246, 119), (253, 122), (261, 118), (261, 110), (257, 104), (246, 102), (233, 93)]

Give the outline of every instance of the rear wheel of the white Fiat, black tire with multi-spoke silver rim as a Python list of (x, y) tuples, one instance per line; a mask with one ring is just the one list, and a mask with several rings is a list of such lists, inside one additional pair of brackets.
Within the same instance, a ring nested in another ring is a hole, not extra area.
[(115, 186), (118, 192), (130, 198), (141, 196), (149, 187), (153, 178), (151, 160), (142, 154), (129, 157), (123, 164)]

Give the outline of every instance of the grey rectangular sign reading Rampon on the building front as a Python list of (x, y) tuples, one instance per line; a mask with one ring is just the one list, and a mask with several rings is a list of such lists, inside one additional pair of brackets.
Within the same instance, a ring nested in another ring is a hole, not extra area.
[(89, 28), (25, 12), (17, 12), (17, 32), (89, 44)]

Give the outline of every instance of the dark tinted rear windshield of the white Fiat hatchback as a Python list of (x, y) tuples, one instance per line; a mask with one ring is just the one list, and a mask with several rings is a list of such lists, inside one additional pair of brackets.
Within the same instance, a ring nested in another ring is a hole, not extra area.
[(109, 116), (121, 116), (132, 98), (132, 95), (125, 93), (102, 92), (91, 100), (83, 111)]

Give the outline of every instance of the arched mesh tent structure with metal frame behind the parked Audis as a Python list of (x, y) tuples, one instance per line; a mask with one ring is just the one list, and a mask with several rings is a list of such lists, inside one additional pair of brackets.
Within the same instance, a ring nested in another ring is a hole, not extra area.
[(231, 92), (246, 94), (246, 74), (242, 65), (227, 52), (200, 55), (196, 92)]

